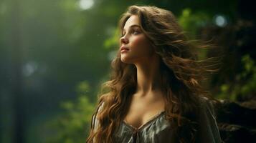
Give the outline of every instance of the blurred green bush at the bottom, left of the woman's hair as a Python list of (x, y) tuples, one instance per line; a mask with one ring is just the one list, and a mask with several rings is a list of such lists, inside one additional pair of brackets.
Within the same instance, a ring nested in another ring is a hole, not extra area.
[(77, 101), (68, 101), (61, 104), (62, 109), (65, 109), (65, 113), (50, 122), (56, 133), (54, 137), (49, 138), (49, 142), (85, 142), (95, 107), (87, 98), (86, 93), (89, 89), (87, 82), (81, 82), (76, 89), (78, 94)]

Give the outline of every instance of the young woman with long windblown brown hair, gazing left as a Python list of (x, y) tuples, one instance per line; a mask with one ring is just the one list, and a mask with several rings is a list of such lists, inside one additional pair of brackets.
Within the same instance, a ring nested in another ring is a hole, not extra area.
[[(200, 61), (171, 13), (130, 6), (87, 142), (221, 142)], [(208, 63), (208, 64), (206, 64)], [(207, 98), (208, 97), (208, 98)]]

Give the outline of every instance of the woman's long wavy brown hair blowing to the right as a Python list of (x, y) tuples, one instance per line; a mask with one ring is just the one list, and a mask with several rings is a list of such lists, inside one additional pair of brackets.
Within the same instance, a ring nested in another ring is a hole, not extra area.
[[(122, 31), (132, 15), (138, 16), (141, 29), (160, 57), (161, 88), (165, 101), (165, 117), (171, 123), (176, 142), (195, 142), (199, 97), (209, 97), (202, 87), (207, 73), (217, 71), (213, 58), (199, 60), (196, 49), (207, 45), (188, 40), (171, 11), (156, 6), (129, 6), (119, 21)], [(120, 32), (121, 33), (121, 32)], [(98, 99), (100, 124), (94, 129), (93, 118), (87, 142), (114, 142), (115, 130), (125, 118), (131, 97), (136, 92), (137, 73), (134, 64), (125, 64), (118, 52), (112, 63), (110, 80), (103, 84)], [(104, 103), (100, 111), (99, 107)]]

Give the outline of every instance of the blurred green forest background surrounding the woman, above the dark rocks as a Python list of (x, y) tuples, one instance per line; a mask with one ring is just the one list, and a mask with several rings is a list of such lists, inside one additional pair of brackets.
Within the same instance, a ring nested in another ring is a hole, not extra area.
[(191, 39), (218, 47), (218, 99), (255, 99), (255, 8), (242, 0), (0, 0), (0, 142), (85, 142), (128, 6), (173, 11)]

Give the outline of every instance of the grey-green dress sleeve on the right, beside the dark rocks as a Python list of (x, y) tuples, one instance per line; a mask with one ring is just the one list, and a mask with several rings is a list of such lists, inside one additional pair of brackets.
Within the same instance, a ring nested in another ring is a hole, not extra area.
[(216, 122), (216, 116), (212, 102), (208, 99), (202, 99), (199, 109), (199, 143), (221, 143), (219, 129)]

